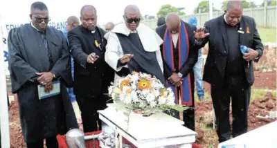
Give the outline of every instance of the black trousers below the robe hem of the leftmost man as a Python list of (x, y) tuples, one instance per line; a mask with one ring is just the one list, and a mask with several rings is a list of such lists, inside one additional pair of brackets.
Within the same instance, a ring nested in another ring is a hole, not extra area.
[[(46, 138), (45, 140), (46, 140), (47, 148), (58, 148), (59, 147), (56, 137)], [(44, 148), (44, 140), (40, 140), (38, 142), (27, 143), (27, 148)]]

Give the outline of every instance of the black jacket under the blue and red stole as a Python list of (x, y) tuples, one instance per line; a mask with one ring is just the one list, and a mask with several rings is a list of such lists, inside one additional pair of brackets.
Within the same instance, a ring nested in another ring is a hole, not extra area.
[[(181, 66), (181, 69), (179, 69), (179, 73), (183, 74), (183, 77), (186, 77), (188, 73), (193, 73), (193, 66), (195, 66), (195, 63), (197, 62), (198, 59), (198, 50), (200, 46), (197, 46), (195, 44), (195, 38), (194, 38), (194, 33), (193, 31), (196, 29), (195, 26), (190, 26), (188, 23), (184, 22), (187, 32), (188, 32), (188, 38), (190, 40), (190, 52), (188, 54), (188, 59), (186, 63)], [(163, 24), (162, 26), (159, 26), (156, 28), (157, 34), (163, 39), (165, 33), (166, 33), (166, 24)], [(161, 48), (161, 53), (163, 53), (163, 44), (160, 46)], [(163, 54), (161, 54), (163, 56)], [(168, 77), (172, 75), (175, 71), (172, 71), (168, 64), (166, 64), (166, 61), (164, 60), (163, 57), (163, 74), (165, 75), (166, 80)]]

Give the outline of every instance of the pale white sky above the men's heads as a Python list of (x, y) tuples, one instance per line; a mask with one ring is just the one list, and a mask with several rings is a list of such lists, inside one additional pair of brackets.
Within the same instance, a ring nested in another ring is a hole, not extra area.
[[(30, 5), (36, 0), (0, 0), (2, 21), (6, 23), (27, 23), (29, 21)], [(38, 0), (39, 1), (39, 0)], [(80, 17), (80, 9), (86, 4), (96, 7), (98, 24), (107, 21), (122, 20), (123, 10), (128, 4), (134, 4), (141, 10), (142, 15), (156, 16), (159, 8), (164, 4), (185, 8), (186, 14), (192, 14), (195, 7), (202, 0), (40, 0), (46, 3), (51, 21), (64, 21), (70, 15)], [(213, 0), (215, 8), (220, 8), (223, 0)], [(249, 1), (249, 0), (248, 0)], [(253, 0), (260, 4), (263, 0)]]

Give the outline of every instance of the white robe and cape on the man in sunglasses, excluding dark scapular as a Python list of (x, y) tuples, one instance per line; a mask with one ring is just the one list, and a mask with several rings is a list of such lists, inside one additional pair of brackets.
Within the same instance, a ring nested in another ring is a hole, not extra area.
[[(159, 37), (159, 35), (144, 24), (139, 24), (139, 27), (136, 28), (137, 33), (139, 34), (139, 38), (141, 39), (141, 43), (143, 44), (143, 48), (148, 52), (155, 52), (157, 61), (163, 72), (163, 59), (161, 57), (160, 45), (163, 44), (163, 39)], [(105, 61), (111, 68), (114, 68), (115, 71), (120, 71), (123, 66), (117, 67), (118, 59), (123, 57), (124, 53), (122, 47), (120, 45), (119, 39), (116, 33), (121, 33), (123, 35), (129, 36), (131, 30), (129, 30), (125, 24), (118, 24), (107, 33), (104, 37), (107, 39), (106, 53), (105, 53)], [(136, 55), (134, 55), (136, 56)], [(124, 66), (127, 68), (127, 64)], [(118, 75), (115, 74), (114, 82), (116, 83), (116, 79), (118, 79)]]

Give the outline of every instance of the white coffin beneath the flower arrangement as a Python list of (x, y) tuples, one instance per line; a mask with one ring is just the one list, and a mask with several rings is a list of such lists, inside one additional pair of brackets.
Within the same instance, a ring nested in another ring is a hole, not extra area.
[(107, 109), (98, 111), (102, 122), (136, 147), (191, 147), (191, 143), (195, 142), (197, 133), (182, 126), (183, 121), (166, 113), (157, 113), (150, 117), (130, 113), (127, 122), (124, 112), (125, 110), (117, 111), (116, 104), (108, 104)]

